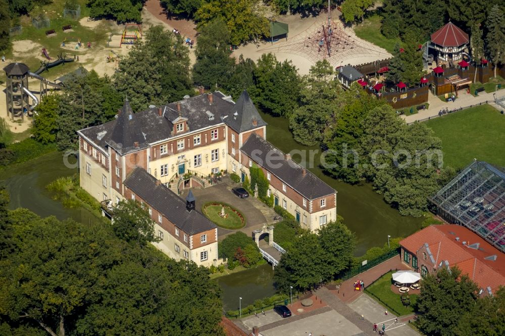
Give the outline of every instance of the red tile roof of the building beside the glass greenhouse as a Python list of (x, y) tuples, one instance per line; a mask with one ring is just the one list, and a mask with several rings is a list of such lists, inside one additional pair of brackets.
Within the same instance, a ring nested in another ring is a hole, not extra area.
[[(458, 266), (484, 291), (491, 287), (496, 293), (499, 286), (505, 286), (505, 253), (471, 230), (459, 225), (432, 225), (400, 241), (412, 253), (417, 253), (425, 243), (435, 259), (434, 266), (447, 260), (449, 266)], [(475, 243), (478, 248), (469, 247)], [(493, 255), (496, 260), (485, 259)]]

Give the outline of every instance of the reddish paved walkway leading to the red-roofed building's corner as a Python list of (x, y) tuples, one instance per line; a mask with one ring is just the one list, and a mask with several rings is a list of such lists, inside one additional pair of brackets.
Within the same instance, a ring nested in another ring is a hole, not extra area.
[[(365, 283), (365, 287), (368, 287), (371, 283), (376, 281), (382, 274), (387, 273), (391, 269), (410, 269), (409, 266), (401, 262), (400, 255), (394, 256), (391, 259), (378, 264), (375, 267), (370, 268), (363, 273), (360, 273), (350, 279), (344, 281), (340, 286), (339, 290), (330, 291), (335, 294), (340, 300), (345, 303), (350, 303), (358, 299), (363, 292), (354, 290), (354, 283), (358, 279)], [(324, 300), (324, 299), (323, 299)]]

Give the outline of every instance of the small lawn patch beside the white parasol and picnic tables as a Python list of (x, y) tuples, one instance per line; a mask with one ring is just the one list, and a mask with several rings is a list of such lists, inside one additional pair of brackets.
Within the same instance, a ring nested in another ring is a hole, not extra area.
[(400, 295), (391, 291), (391, 274), (392, 272), (388, 272), (381, 276), (375, 283), (367, 287), (366, 292), (374, 294), (375, 296), (370, 295), (370, 297), (374, 300), (377, 300), (377, 298), (379, 298), (382, 301), (379, 301), (380, 304), (386, 304), (386, 309), (392, 309), (396, 313), (400, 314), (400, 316), (412, 314), (414, 312), (413, 306), (416, 303), (417, 295), (410, 295), (411, 305), (403, 306), (401, 303)]

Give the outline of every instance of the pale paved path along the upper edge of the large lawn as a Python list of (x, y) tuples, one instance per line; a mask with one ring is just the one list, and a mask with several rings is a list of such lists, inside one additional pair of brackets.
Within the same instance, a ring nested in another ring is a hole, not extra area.
[[(445, 107), (451, 110), (455, 108), (475, 105), (486, 100), (494, 100), (493, 93), (494, 92), (491, 93), (481, 92), (477, 97), (474, 97), (470, 93), (467, 93), (466, 90), (460, 90), (458, 91), (458, 98), (456, 99), (455, 102), (444, 102), (430, 92), (428, 94), (428, 102), (430, 103), (429, 108), (421, 110), (419, 111), (419, 113), (415, 115), (407, 115), (407, 116), (402, 115), (401, 118), (405, 119), (408, 123), (412, 123), (414, 121), (425, 119), (428, 117), (438, 116), (438, 111), (440, 111)], [(497, 98), (504, 95), (505, 90), (499, 90), (496, 93)], [(495, 108), (501, 109), (501, 107), (499, 107), (495, 103), (491, 103), (490, 105), (494, 106)]]

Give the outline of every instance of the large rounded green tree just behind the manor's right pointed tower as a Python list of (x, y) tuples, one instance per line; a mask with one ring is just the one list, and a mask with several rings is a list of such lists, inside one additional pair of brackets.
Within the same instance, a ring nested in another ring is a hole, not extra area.
[(256, 87), (249, 94), (266, 112), (289, 117), (298, 107), (300, 78), (291, 61), (281, 63), (272, 53), (262, 54), (254, 78)]

